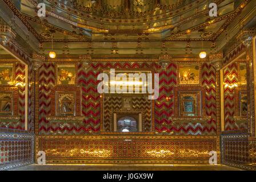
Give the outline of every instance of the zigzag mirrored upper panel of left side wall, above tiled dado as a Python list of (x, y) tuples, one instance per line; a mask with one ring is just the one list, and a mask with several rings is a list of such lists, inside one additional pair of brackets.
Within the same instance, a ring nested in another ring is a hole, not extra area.
[(25, 64), (0, 60), (0, 128), (25, 130), (25, 85)]

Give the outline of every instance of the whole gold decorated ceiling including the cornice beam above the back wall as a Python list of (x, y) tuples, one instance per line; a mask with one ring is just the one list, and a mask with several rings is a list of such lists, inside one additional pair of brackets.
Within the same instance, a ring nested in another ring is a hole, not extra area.
[[(39, 47), (71, 54), (195, 54), (214, 52), (225, 32), (251, 0), (45, 0), (46, 17), (37, 16), (41, 0), (3, 0), (37, 38)], [(254, 2), (255, 4), (255, 2)], [(88, 50), (90, 49), (90, 50)], [(87, 51), (87, 52), (85, 52)], [(88, 52), (89, 51), (89, 52)]]

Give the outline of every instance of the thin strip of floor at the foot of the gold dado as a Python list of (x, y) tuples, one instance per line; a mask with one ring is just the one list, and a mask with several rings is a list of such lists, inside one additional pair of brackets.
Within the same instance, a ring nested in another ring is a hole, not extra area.
[(228, 166), (210, 165), (61, 165), (32, 164), (13, 169), (14, 171), (239, 171)]

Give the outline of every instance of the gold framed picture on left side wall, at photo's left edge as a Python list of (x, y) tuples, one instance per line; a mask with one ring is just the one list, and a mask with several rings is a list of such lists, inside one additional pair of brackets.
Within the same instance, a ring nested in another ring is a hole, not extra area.
[(0, 64), (0, 85), (13, 85), (14, 64)]

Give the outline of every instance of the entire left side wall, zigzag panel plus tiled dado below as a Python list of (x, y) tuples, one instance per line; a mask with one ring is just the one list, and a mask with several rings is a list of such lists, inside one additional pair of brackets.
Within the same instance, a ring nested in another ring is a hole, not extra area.
[(27, 75), (26, 79), (25, 64), (16, 59), (0, 59), (0, 170), (34, 162), (34, 71), (31, 64)]

